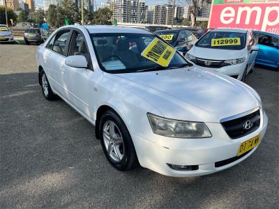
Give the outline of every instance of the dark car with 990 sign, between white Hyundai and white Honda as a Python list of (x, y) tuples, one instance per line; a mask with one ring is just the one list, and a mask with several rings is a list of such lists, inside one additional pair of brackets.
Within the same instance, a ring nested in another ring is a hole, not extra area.
[(197, 38), (191, 31), (186, 29), (171, 29), (154, 32), (156, 35), (163, 38), (170, 45), (176, 48), (177, 51), (182, 52), (184, 55), (192, 47)]

